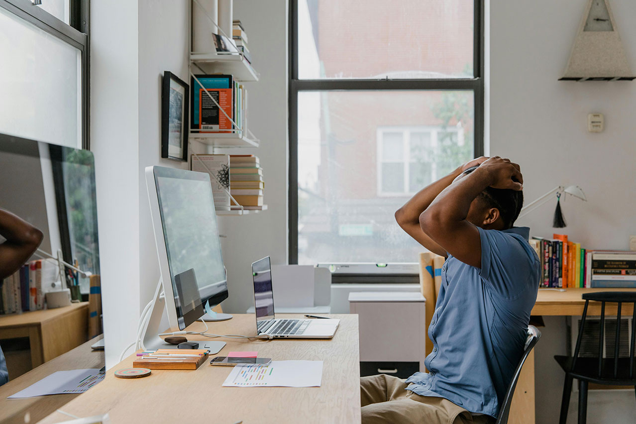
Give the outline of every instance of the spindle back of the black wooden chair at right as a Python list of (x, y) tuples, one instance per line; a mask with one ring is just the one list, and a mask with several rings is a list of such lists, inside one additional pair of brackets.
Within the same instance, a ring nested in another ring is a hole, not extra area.
[[(614, 339), (614, 378), (618, 377), (618, 353), (619, 340), (621, 337), (621, 309), (623, 303), (631, 303), (633, 307), (632, 324), (636, 323), (636, 293), (635, 292), (594, 292), (583, 294), (585, 299), (585, 307), (583, 308), (583, 317), (581, 317), (581, 325), (579, 326), (579, 337), (576, 340), (576, 348), (574, 349), (574, 357), (572, 358), (572, 369), (576, 367), (576, 360), (579, 357), (581, 349), (581, 339), (583, 339), (583, 329), (585, 327), (585, 318), (588, 315), (588, 304), (590, 301), (600, 302), (600, 331), (598, 332), (598, 376), (603, 374), (603, 345), (605, 338), (605, 303), (618, 303), (616, 308), (616, 338)], [(634, 343), (636, 341), (636, 325), (632, 325), (632, 335), (630, 336), (630, 374), (629, 378), (634, 376)]]

